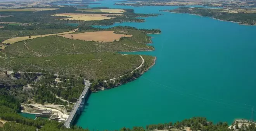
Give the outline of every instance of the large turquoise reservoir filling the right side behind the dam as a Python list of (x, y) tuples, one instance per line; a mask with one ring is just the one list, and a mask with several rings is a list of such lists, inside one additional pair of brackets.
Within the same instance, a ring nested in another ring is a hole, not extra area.
[(178, 7), (99, 2), (90, 6), (161, 13), (144, 18), (144, 23), (112, 26), (160, 29), (162, 33), (150, 35), (154, 51), (133, 52), (156, 56), (156, 64), (133, 82), (92, 93), (77, 126), (102, 131), (194, 116), (228, 124), (235, 119), (251, 118), (252, 107), (256, 106), (256, 26), (159, 11)]

